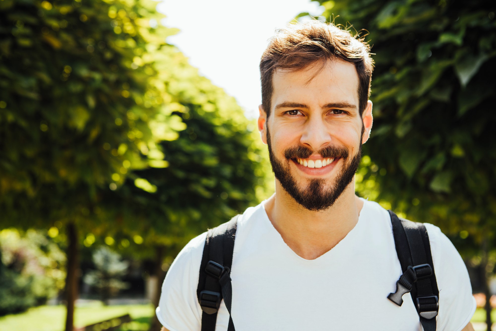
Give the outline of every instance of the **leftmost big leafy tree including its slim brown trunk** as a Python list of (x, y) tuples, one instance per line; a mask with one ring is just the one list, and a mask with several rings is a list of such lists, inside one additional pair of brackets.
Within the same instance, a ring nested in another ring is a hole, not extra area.
[(175, 139), (155, 58), (175, 30), (153, 1), (0, 1), (1, 227), (67, 229), (67, 320), (77, 295), (78, 228), (129, 170), (164, 167)]

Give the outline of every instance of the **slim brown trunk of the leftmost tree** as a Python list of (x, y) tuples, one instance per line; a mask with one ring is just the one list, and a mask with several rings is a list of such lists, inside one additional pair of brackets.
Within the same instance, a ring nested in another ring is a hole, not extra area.
[(79, 243), (74, 223), (67, 224), (67, 276), (65, 278), (65, 294), (67, 301), (67, 317), (65, 331), (74, 330), (74, 301), (78, 293)]

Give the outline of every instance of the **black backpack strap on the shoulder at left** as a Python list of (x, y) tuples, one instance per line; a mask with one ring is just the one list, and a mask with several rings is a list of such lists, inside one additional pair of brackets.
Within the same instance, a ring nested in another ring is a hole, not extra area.
[(234, 331), (231, 318), (231, 265), (239, 215), (231, 221), (208, 230), (200, 264), (196, 294), (201, 310), (201, 331), (215, 331), (217, 312), (224, 299), (229, 312), (228, 331)]

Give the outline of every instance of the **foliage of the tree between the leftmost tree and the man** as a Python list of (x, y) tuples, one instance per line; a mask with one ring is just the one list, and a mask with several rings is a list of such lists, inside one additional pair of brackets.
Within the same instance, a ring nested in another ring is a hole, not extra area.
[[(117, 245), (130, 242), (134, 253), (149, 255), (149, 248), (163, 245), (174, 257), (194, 236), (266, 197), (271, 172), (255, 123), (236, 100), (199, 76), (175, 47), (163, 54), (156, 65), (175, 96), (168, 107), (187, 128), (160, 143), (166, 168), (135, 170), (123, 186), (102, 194), (100, 205), (115, 206), (106, 217), (125, 227), (93, 231), (116, 237)], [(143, 239), (141, 249), (134, 236)]]

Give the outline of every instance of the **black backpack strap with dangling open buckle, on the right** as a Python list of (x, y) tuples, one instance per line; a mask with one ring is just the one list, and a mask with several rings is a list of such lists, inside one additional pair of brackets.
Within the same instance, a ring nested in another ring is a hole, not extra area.
[(435, 331), (439, 290), (426, 227), (422, 223), (400, 220), (395, 213), (388, 212), (403, 274), (396, 282), (396, 292), (387, 298), (401, 306), (403, 294), (410, 292), (424, 331)]

